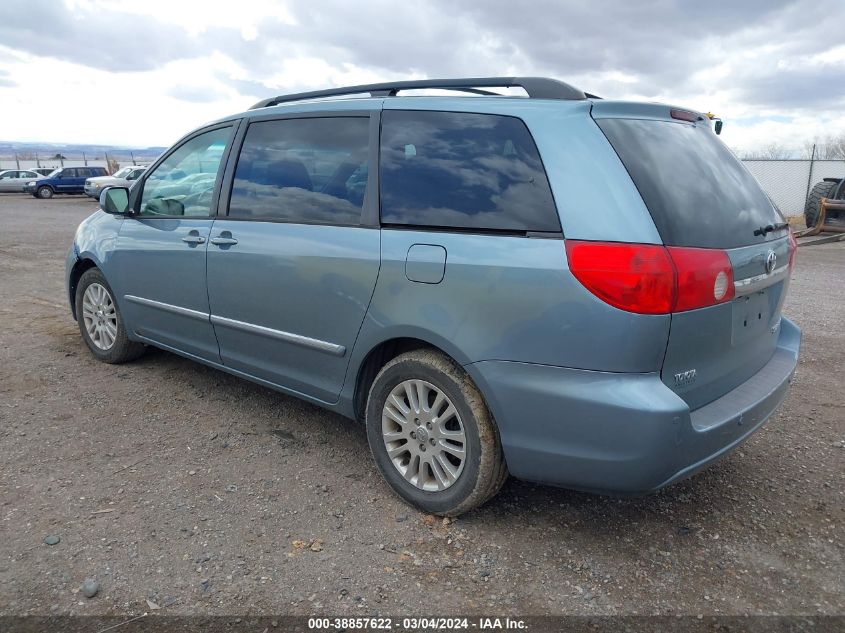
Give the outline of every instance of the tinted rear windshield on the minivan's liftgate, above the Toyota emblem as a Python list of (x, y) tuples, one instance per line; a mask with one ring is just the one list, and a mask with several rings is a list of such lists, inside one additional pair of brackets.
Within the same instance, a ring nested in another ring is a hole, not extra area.
[(742, 163), (706, 125), (599, 119), (668, 246), (736, 248), (783, 237), (783, 222)]

